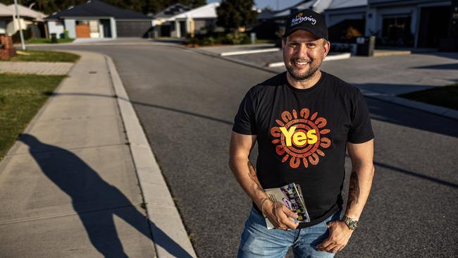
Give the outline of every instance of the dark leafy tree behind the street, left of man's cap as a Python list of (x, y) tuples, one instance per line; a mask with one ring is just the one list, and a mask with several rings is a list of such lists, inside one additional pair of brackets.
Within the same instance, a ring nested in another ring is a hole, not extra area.
[(216, 8), (216, 23), (230, 31), (254, 23), (258, 13), (253, 10), (253, 6), (254, 0), (223, 0)]

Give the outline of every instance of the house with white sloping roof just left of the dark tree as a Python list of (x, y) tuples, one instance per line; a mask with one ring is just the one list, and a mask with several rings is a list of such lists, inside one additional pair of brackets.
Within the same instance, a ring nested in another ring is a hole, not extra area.
[(171, 24), (171, 37), (185, 37), (186, 35), (205, 34), (216, 28), (216, 8), (219, 3), (206, 4), (190, 11), (168, 18)]

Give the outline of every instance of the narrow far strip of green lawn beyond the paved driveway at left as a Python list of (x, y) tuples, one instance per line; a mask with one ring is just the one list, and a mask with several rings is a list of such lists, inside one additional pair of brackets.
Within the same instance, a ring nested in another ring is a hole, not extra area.
[[(22, 54), (24, 53), (24, 54)], [(37, 50), (27, 50), (27, 51), (18, 51), (18, 55), (11, 58), (9, 61), (35, 61), (35, 62), (70, 62), (75, 63), (80, 59), (80, 56), (56, 52), (56, 51), (37, 51)]]

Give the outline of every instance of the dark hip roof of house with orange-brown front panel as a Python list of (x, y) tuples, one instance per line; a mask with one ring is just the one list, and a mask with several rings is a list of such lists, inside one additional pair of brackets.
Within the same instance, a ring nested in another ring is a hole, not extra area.
[(121, 9), (99, 0), (89, 0), (85, 4), (70, 7), (67, 10), (48, 16), (47, 20), (62, 19), (66, 17), (113, 17), (116, 19), (142, 19), (151, 20), (143, 13)]

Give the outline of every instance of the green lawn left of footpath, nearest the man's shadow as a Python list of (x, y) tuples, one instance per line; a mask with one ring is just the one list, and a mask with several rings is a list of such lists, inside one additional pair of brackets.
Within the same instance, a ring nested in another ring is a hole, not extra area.
[(0, 161), (65, 77), (0, 74)]

